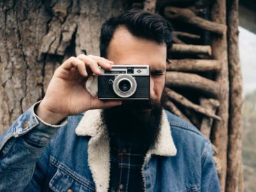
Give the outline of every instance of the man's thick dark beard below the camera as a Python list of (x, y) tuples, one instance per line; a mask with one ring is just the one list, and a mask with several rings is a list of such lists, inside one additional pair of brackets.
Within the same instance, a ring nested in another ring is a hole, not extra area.
[(147, 150), (157, 140), (162, 111), (161, 103), (154, 100), (127, 100), (121, 106), (103, 109), (102, 119), (110, 139)]

